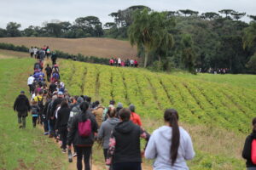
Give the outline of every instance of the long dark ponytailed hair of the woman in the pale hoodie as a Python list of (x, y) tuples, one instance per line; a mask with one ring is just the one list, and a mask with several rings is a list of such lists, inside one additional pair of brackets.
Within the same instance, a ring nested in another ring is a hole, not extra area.
[(174, 109), (167, 109), (165, 111), (165, 121), (170, 123), (170, 126), (172, 126), (172, 144), (171, 144), (171, 161), (172, 166), (174, 165), (175, 161), (177, 160), (177, 150), (179, 146), (179, 139), (180, 139), (180, 133), (178, 128), (178, 115), (177, 111)]

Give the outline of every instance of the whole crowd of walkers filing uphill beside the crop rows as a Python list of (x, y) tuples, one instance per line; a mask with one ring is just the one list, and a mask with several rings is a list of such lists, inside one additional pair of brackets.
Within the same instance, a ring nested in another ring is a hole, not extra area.
[[(135, 105), (123, 108), (122, 103), (116, 105), (114, 100), (110, 100), (109, 105), (104, 107), (100, 101), (91, 102), (89, 96), (68, 94), (65, 83), (61, 82), (55, 54), (47, 57), (44, 53), (47, 49), (42, 48), (36, 54), (31, 52), (31, 56), (35, 55), (38, 59), (33, 74), (27, 80), (32, 98), (27, 99), (25, 91), (21, 91), (14, 104), (20, 128), (26, 128), (26, 116), (30, 111), (33, 127), (43, 125), (44, 135), (55, 138), (61, 144), (63, 153), (68, 150), (69, 158), (73, 149), (79, 170), (83, 169), (83, 160), (84, 169), (91, 169), (90, 158), (95, 142), (102, 144), (106, 169), (141, 170), (143, 156), (154, 159), (154, 170), (189, 169), (186, 161), (193, 159), (195, 151), (189, 133), (178, 125), (176, 110), (166, 109), (163, 113), (164, 125), (149, 134), (143, 128)], [(45, 57), (51, 57), (51, 67), (47, 65), (44, 68)], [(256, 160), (255, 125), (253, 119), (253, 133), (247, 137), (242, 152), (249, 169), (256, 168), (256, 161), (253, 161)], [(147, 141), (143, 150), (140, 138)]]

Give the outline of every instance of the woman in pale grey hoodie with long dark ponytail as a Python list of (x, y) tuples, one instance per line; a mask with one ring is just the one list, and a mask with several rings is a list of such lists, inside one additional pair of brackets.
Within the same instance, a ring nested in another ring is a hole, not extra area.
[(178, 114), (167, 109), (164, 114), (165, 125), (151, 135), (145, 157), (155, 159), (154, 170), (189, 169), (186, 160), (195, 156), (189, 133), (178, 126)]

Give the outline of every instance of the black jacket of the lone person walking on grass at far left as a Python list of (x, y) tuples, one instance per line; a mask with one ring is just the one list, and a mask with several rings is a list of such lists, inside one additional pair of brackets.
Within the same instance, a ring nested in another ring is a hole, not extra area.
[(15, 99), (14, 110), (15, 111), (30, 111), (30, 109), (31, 109), (31, 107), (29, 104), (29, 100), (26, 98), (26, 95), (20, 94)]

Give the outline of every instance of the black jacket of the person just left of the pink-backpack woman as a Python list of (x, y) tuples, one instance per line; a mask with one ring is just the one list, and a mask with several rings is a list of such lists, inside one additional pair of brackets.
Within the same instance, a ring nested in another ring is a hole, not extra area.
[(70, 114), (70, 109), (68, 107), (61, 108), (58, 111), (58, 117), (57, 117), (57, 122), (55, 123), (55, 129), (61, 129), (67, 128), (67, 122)]

